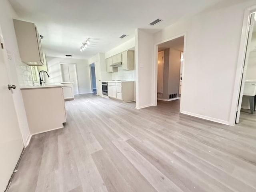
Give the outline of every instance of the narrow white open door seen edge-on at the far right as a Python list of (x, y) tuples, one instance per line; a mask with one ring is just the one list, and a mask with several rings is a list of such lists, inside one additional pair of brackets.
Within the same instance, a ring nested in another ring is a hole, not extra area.
[(247, 39), (245, 59), (244, 59), (244, 70), (242, 72), (242, 83), (241, 83), (241, 88), (240, 88), (240, 96), (239, 96), (239, 100), (238, 100), (236, 123), (239, 123), (239, 119), (240, 119), (242, 99), (243, 99), (243, 94), (244, 94), (244, 82), (245, 82), (245, 78), (246, 78), (246, 70), (247, 70), (249, 54), (250, 54), (250, 44), (252, 42), (253, 26), (254, 26), (254, 23), (255, 23), (254, 18), (255, 18), (255, 13), (251, 14), (251, 17), (250, 17), (250, 27), (249, 27), (249, 31), (248, 31), (248, 39)]

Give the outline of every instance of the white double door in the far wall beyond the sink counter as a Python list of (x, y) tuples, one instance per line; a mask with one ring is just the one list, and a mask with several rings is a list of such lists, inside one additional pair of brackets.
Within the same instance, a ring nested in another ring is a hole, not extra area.
[(73, 82), (74, 94), (78, 94), (78, 80), (75, 63), (60, 63), (62, 82)]

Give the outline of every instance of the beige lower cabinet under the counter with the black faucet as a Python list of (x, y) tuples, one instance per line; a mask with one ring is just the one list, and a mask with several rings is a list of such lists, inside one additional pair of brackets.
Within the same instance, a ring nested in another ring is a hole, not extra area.
[(62, 87), (21, 88), (31, 134), (63, 128), (66, 109)]

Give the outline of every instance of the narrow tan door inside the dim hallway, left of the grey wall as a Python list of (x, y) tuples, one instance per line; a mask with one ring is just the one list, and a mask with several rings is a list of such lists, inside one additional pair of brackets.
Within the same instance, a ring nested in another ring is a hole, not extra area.
[(164, 51), (158, 52), (157, 60), (157, 92), (163, 93), (164, 82)]

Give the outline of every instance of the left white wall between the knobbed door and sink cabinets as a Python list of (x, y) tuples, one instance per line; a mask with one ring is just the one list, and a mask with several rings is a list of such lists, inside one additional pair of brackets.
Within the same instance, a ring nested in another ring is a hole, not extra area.
[[(12, 60), (9, 60), (8, 72), (10, 76), (10, 84), (15, 84), (16, 89), (13, 90), (13, 100), (16, 108), (16, 114), (22, 133), (24, 145), (29, 142), (29, 128), (26, 117), (26, 111), (23, 104), (23, 98), (20, 91), (20, 86), (32, 84), (32, 76), (30, 68), (20, 62), (20, 54), (14, 31), (12, 18), (18, 18), (8, 0), (0, 1), (0, 26), (4, 36), (6, 49), (12, 55)], [(18, 73), (18, 75), (17, 75)]]

